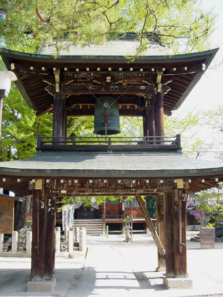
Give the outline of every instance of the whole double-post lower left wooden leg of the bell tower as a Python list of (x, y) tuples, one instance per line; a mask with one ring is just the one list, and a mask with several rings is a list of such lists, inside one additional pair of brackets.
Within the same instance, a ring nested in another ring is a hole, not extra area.
[[(56, 198), (46, 195), (42, 179), (33, 190), (31, 281), (52, 280), (54, 270), (54, 236)], [(42, 189), (41, 189), (42, 188)]]

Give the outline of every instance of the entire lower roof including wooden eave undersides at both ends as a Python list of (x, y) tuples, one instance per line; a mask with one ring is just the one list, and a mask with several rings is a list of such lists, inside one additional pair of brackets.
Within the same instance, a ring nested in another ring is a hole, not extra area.
[[(37, 152), (34, 157), (0, 163), (0, 187), (31, 195), (34, 178), (120, 178), (191, 180), (186, 193), (219, 187), (223, 164), (191, 159), (181, 153)], [(17, 182), (19, 179), (19, 182)], [(16, 188), (15, 188), (16, 187)]]

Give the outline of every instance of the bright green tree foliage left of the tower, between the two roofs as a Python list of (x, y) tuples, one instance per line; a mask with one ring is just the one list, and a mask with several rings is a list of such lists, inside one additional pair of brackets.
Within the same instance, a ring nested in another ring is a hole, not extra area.
[[(0, 69), (4, 69), (1, 61)], [(7, 99), (3, 99), (0, 160), (31, 157), (36, 152), (38, 133), (52, 136), (52, 115), (36, 117), (12, 83)]]

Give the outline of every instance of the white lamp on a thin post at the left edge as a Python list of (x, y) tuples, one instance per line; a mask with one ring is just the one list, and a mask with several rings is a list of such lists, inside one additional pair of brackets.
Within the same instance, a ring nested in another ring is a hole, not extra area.
[(11, 87), (11, 81), (17, 80), (12, 71), (0, 71), (0, 135), (1, 135), (1, 115), (3, 98), (8, 97)]

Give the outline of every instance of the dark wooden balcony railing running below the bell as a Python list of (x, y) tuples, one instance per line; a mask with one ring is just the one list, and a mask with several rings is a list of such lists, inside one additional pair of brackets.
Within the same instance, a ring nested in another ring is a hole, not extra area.
[(181, 151), (175, 137), (46, 137), (37, 135), (37, 151)]

